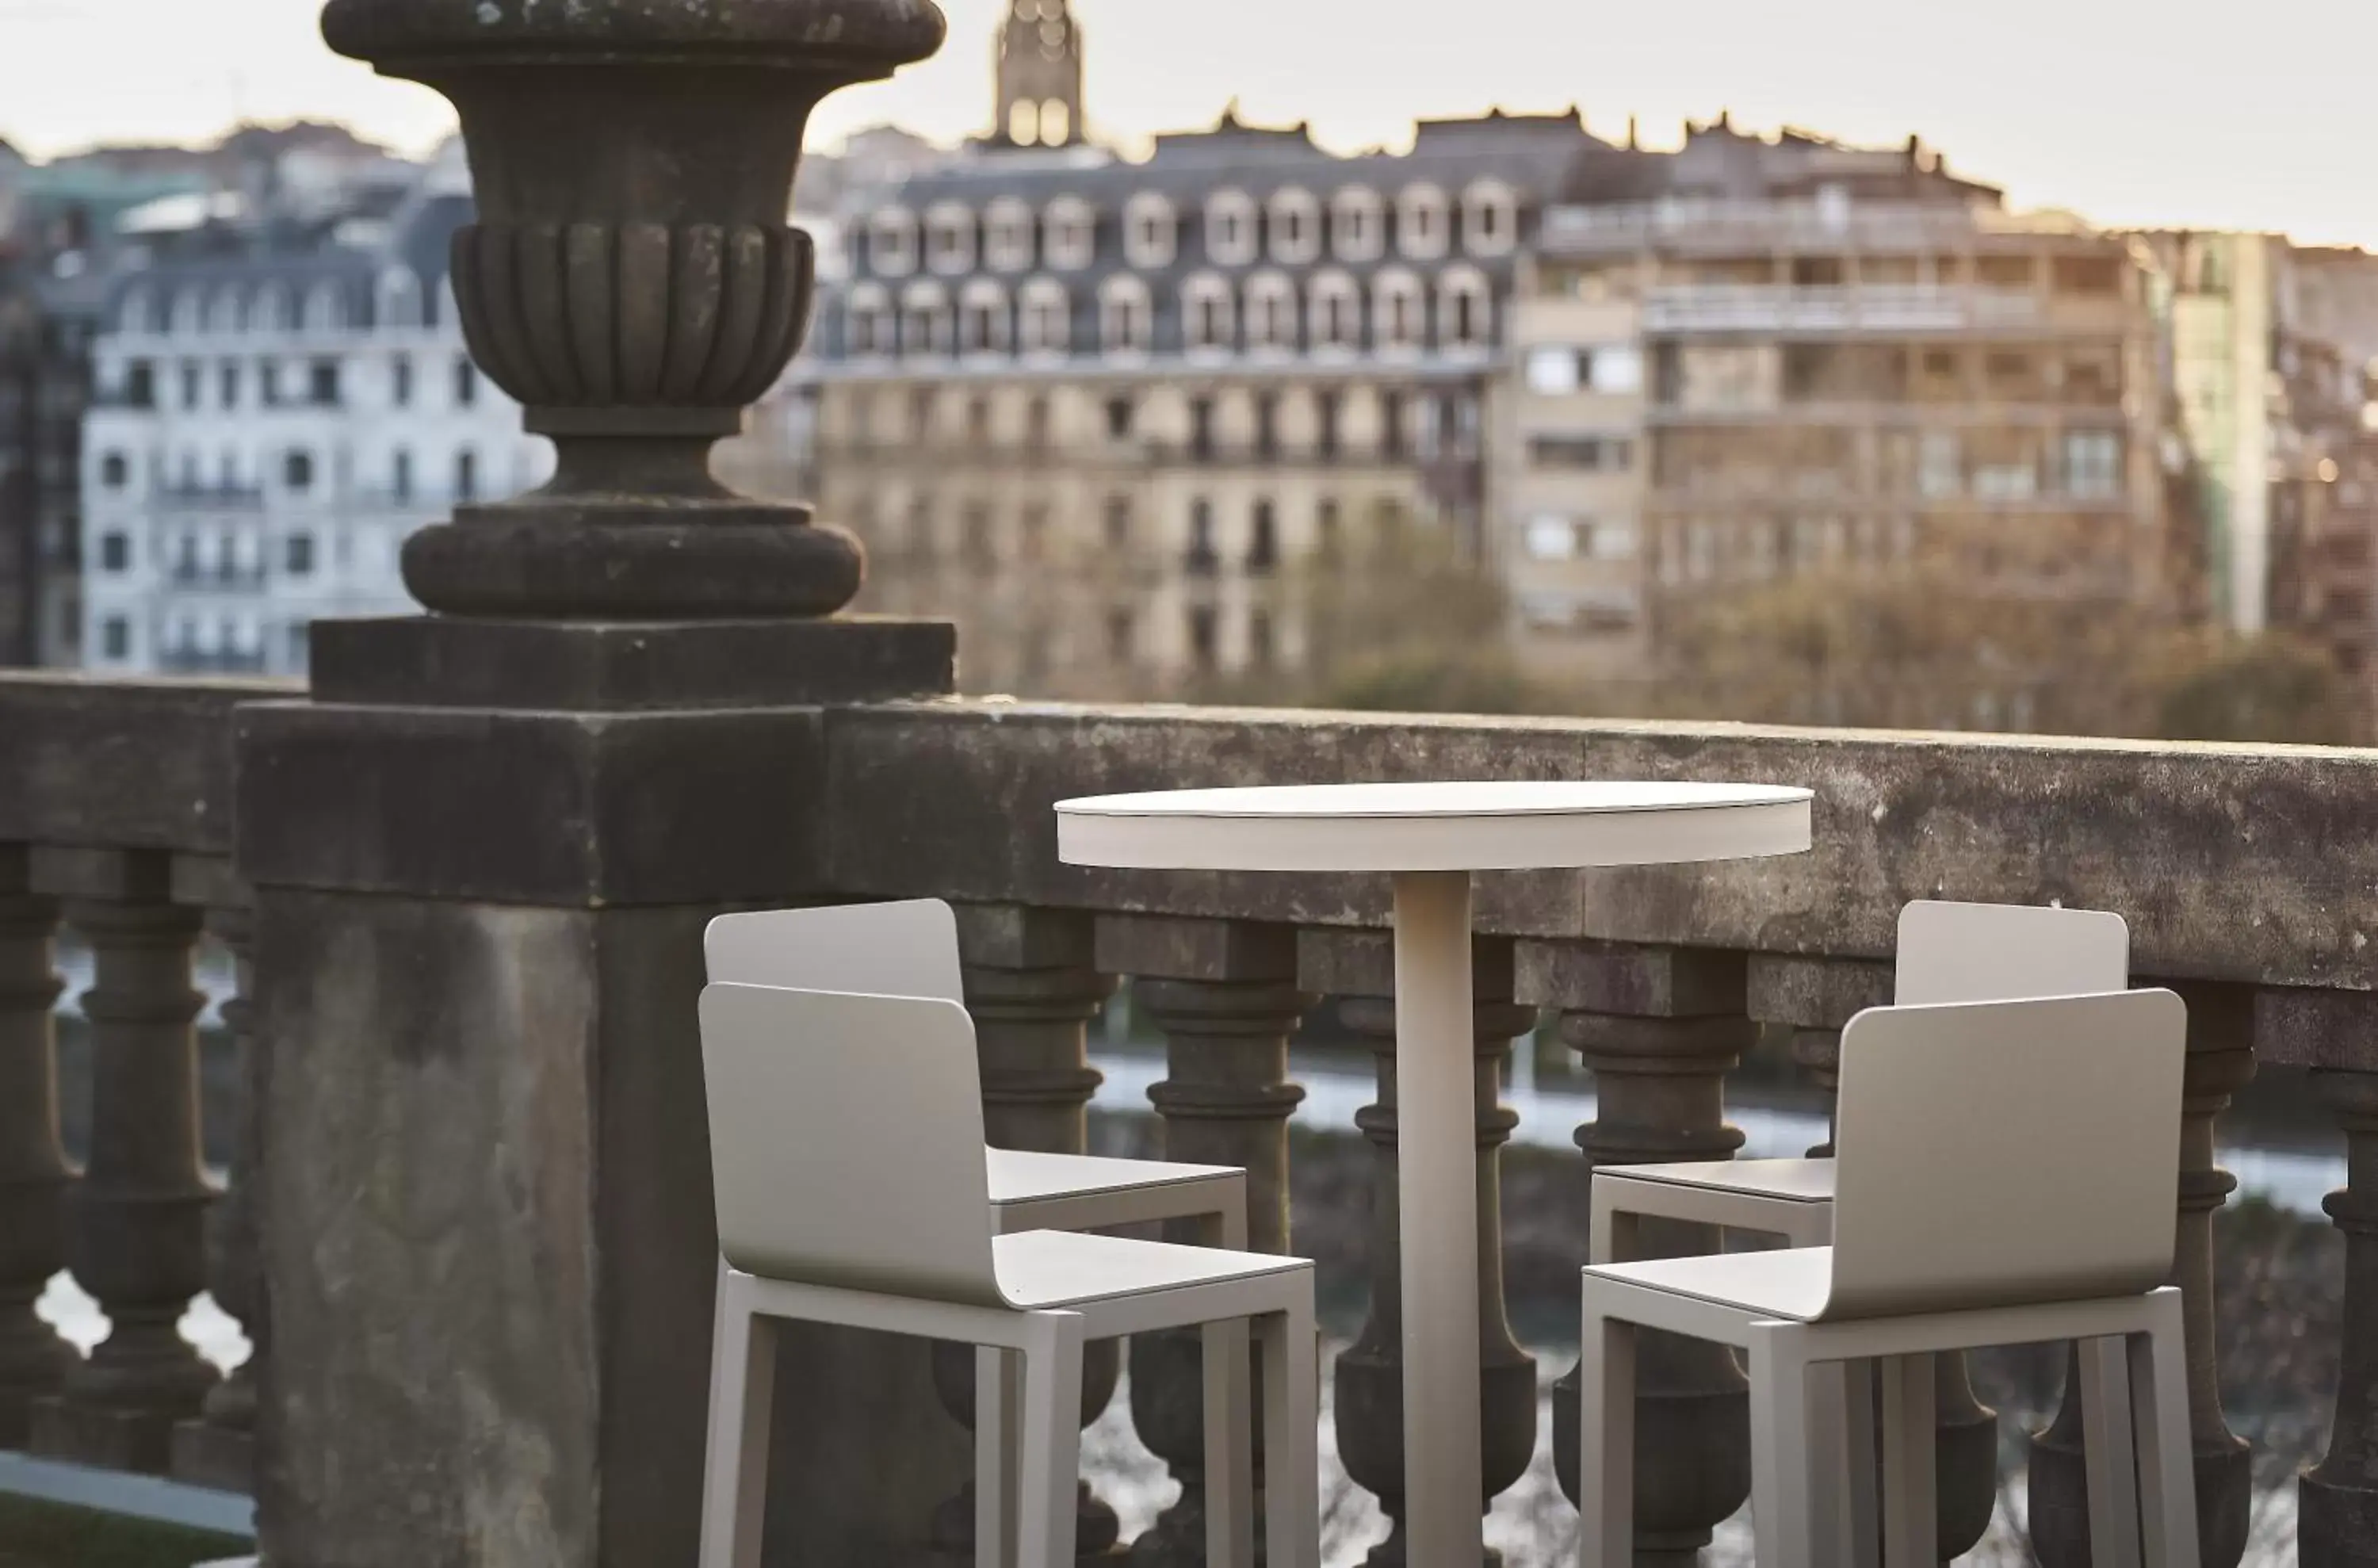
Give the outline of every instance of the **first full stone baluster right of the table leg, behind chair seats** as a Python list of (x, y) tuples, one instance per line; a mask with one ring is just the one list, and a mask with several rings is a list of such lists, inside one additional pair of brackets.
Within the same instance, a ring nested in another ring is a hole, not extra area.
[[(1520, 995), (1562, 1009), (1593, 1068), (1589, 1166), (1731, 1159), (1726, 1071), (1757, 1037), (1743, 954), (1684, 947), (1520, 945)], [(1643, 1221), (1638, 1256), (1717, 1252), (1712, 1225)], [(1584, 1263), (1584, 1244), (1579, 1244)], [(1636, 1363), (1636, 1563), (1691, 1568), (1750, 1494), (1748, 1385), (1724, 1344), (1646, 1332)], [(1553, 1461), (1577, 1501), (1577, 1371), (1553, 1387)]]

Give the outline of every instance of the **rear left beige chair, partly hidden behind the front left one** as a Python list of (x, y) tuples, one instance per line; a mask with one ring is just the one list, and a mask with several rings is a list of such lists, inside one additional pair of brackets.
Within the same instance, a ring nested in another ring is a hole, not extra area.
[[(965, 1004), (958, 918), (942, 899), (728, 914), (709, 923), (704, 959), (713, 983)], [(1206, 1247), (1246, 1247), (1244, 1171), (1027, 1149), (984, 1149), (984, 1164), (1001, 1233), (1184, 1218), (1196, 1221)], [(1015, 1561), (1015, 1520), (1004, 1516), (1015, 1478), (992, 1468), (1001, 1454), (1015, 1454), (1013, 1373), (1013, 1356), (975, 1359), (975, 1423), (1006, 1432), (1001, 1442), (975, 1444), (977, 1568)]]

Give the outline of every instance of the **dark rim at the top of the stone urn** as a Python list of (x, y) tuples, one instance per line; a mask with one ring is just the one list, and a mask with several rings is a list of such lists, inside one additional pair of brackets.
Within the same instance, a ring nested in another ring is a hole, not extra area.
[(354, 59), (732, 50), (754, 64), (889, 71), (942, 48), (932, 0), (331, 0), (321, 36)]

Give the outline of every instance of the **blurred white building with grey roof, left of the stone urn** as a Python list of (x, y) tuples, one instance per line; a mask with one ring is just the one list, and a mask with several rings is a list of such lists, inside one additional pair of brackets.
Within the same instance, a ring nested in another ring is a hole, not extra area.
[(200, 226), (117, 288), (83, 431), (83, 659), (302, 673), (307, 623), (414, 614), (397, 550), (552, 469), (471, 364), (459, 159), (338, 221)]

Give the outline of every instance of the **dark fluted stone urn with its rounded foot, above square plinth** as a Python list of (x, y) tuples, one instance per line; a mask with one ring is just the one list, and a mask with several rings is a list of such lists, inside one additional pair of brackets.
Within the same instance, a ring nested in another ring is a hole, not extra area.
[(454, 302), (554, 440), (549, 485), (461, 507), (404, 583), (464, 616), (766, 619), (858, 592), (854, 540), (709, 447), (782, 374), (816, 255), (787, 207), (820, 98), (932, 55), (927, 0), (331, 0), (340, 55), (445, 93), (478, 221)]

